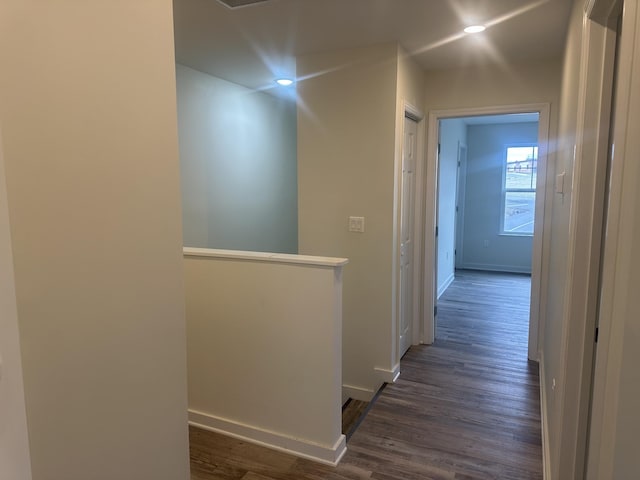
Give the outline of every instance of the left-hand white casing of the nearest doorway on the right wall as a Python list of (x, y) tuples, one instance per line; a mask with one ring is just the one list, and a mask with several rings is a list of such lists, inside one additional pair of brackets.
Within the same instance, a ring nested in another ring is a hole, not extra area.
[[(605, 355), (609, 340), (607, 327), (610, 323), (607, 321), (607, 310), (612, 308), (610, 300), (613, 297), (612, 291), (608, 289), (611, 288), (611, 275), (614, 273), (611, 255), (613, 253), (615, 256), (615, 253), (606, 249), (610, 250), (616, 242), (618, 210), (615, 195), (616, 192), (619, 193), (622, 181), (621, 170), (616, 168), (621, 165), (621, 162), (616, 159), (611, 169), (609, 192), (611, 202), (608, 207), (607, 240), (603, 245), (605, 180), (616, 48), (615, 33), (607, 25), (616, 3), (616, 0), (588, 0), (584, 4), (582, 18), (580, 69), (576, 96), (573, 190), (562, 311), (561, 364), (558, 372), (561, 388), (555, 393), (557, 398), (555, 401), (561, 405), (559, 413), (556, 413), (561, 418), (561, 422), (555, 426), (556, 442), (553, 445), (548, 442), (549, 448), (553, 450), (545, 451), (547, 458), (555, 459), (553, 465), (546, 466), (551, 469), (549, 473), (562, 478), (585, 477), (589, 430), (591, 429), (590, 441), (593, 442), (593, 447), (599, 448), (597, 445), (601, 441), (601, 433), (607, 429), (607, 426), (601, 422), (602, 419), (598, 418), (598, 405), (602, 396), (598, 396), (597, 384), (594, 390), (593, 409), (591, 390), (597, 379), (597, 374), (594, 377), (594, 355), (596, 355), (595, 329), (599, 317), (604, 321), (603, 328), (600, 329), (598, 350), (602, 350)], [(628, 65), (622, 57), (620, 62), (619, 78), (622, 79)], [(628, 63), (631, 64), (630, 59)], [(626, 106), (627, 103), (624, 105)], [(616, 119), (620, 118), (619, 113), (623, 112), (617, 112)], [(616, 120), (618, 121), (621, 122), (622, 127), (623, 121)], [(618, 144), (619, 139), (616, 139), (615, 143)], [(603, 248), (605, 251), (601, 271)], [(603, 358), (600, 351), (597, 355)], [(546, 361), (542, 370), (542, 377), (548, 379), (551, 371)], [(546, 386), (543, 385), (543, 388), (546, 390)], [(544, 393), (546, 403), (546, 398), (552, 394), (546, 391)], [(589, 418), (590, 411), (595, 412), (591, 415), (593, 420)], [(551, 431), (550, 426), (546, 424), (549, 420), (544, 421), (543, 428)], [(593, 466), (593, 468), (599, 467)], [(604, 474), (595, 478), (613, 477)]]

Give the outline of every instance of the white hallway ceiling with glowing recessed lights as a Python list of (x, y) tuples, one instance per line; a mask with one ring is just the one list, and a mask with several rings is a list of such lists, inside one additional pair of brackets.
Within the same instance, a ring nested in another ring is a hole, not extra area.
[[(571, 0), (174, 0), (176, 60), (250, 88), (296, 55), (398, 42), (425, 70), (558, 58)], [(462, 34), (472, 23), (484, 33)]]

